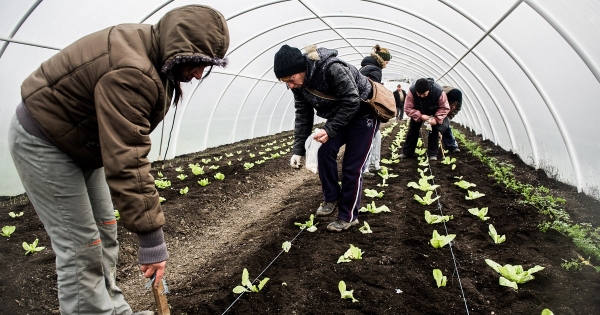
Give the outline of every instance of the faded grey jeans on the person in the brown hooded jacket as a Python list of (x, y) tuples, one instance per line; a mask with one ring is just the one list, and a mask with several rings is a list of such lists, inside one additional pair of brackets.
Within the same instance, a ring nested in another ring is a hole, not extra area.
[[(117, 221), (104, 169), (82, 169), (13, 116), (8, 143), (56, 254), (61, 314), (129, 315), (116, 285)], [(40, 244), (44, 245), (44, 244)]]

